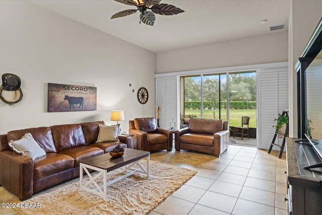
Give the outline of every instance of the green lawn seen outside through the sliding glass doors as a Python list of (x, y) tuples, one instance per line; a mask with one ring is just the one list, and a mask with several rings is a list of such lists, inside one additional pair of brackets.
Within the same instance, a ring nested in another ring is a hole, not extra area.
[[(200, 110), (185, 110), (185, 114), (194, 114), (197, 115), (198, 118), (201, 116)], [(229, 110), (230, 120), (229, 126), (241, 126), (241, 117), (242, 116), (250, 116), (250, 124), (249, 127), (256, 128), (256, 109), (232, 109)], [(219, 118), (219, 110), (215, 110), (216, 119)], [(203, 118), (213, 119), (213, 110), (204, 110)], [(221, 111), (221, 119), (227, 120), (226, 111)]]

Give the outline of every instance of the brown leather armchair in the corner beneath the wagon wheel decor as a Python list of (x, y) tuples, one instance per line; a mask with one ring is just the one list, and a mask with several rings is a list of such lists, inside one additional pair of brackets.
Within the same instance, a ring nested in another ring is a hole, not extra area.
[(156, 126), (154, 117), (135, 118), (129, 121), (129, 134), (136, 137), (135, 149), (155, 152), (172, 150), (173, 132)]

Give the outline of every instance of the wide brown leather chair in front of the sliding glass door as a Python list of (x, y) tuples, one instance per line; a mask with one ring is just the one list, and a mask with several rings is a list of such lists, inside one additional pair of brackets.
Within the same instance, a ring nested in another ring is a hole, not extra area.
[(189, 125), (175, 131), (176, 151), (190, 150), (219, 157), (228, 148), (228, 121), (191, 118)]

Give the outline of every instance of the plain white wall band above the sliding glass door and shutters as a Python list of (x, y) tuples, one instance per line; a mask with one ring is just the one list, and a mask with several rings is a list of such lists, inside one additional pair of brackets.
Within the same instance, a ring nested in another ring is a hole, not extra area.
[(288, 33), (280, 32), (156, 54), (156, 73), (288, 61)]

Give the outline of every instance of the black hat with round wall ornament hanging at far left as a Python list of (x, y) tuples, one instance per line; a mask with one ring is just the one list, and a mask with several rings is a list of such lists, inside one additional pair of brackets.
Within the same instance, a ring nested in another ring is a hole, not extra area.
[(0, 99), (10, 105), (20, 102), (23, 98), (20, 86), (21, 80), (17, 75), (11, 73), (2, 75)]

